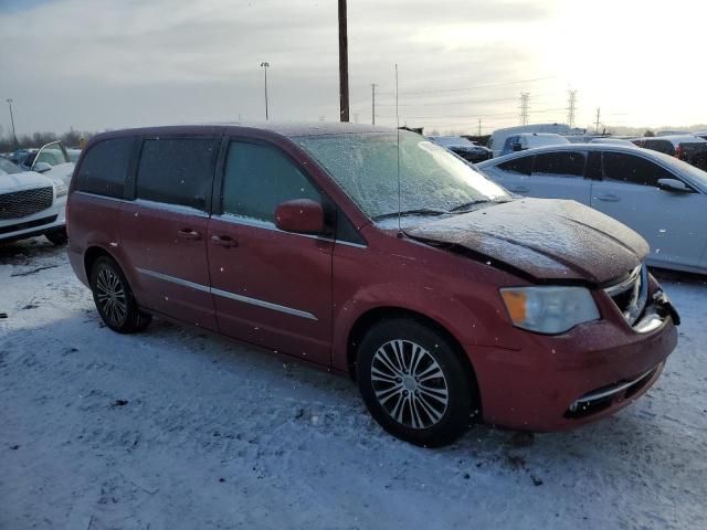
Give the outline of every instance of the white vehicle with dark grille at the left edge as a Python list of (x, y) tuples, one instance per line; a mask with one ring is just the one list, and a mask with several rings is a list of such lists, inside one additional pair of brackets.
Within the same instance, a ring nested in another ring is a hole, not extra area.
[(66, 184), (0, 158), (0, 242), (44, 234), (66, 243)]

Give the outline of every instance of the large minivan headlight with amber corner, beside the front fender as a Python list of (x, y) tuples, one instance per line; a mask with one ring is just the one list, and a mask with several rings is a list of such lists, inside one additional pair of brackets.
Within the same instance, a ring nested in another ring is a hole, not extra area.
[(557, 335), (599, 319), (599, 309), (584, 287), (513, 287), (500, 289), (514, 326)]

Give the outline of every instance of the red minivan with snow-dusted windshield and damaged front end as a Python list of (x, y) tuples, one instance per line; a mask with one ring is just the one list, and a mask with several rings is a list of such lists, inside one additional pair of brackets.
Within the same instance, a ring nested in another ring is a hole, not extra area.
[(355, 378), (391, 434), (571, 428), (659, 377), (678, 316), (645, 241), (520, 199), (424, 137), (350, 124), (106, 132), (68, 255), (105, 324), (152, 316)]

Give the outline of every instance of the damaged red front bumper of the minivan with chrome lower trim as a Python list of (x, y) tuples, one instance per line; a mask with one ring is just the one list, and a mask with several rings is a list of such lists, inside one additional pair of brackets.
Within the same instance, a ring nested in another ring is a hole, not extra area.
[(484, 421), (549, 432), (615, 413), (658, 379), (677, 344), (675, 324), (679, 317), (656, 292), (633, 328), (603, 319), (562, 336), (524, 332), (519, 350), (469, 348)]

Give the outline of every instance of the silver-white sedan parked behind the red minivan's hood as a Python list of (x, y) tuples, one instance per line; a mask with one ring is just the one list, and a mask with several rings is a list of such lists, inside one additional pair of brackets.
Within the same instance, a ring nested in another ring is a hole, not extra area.
[(573, 199), (631, 226), (650, 265), (707, 274), (707, 172), (674, 157), (620, 145), (573, 144), (476, 166), (514, 193)]

